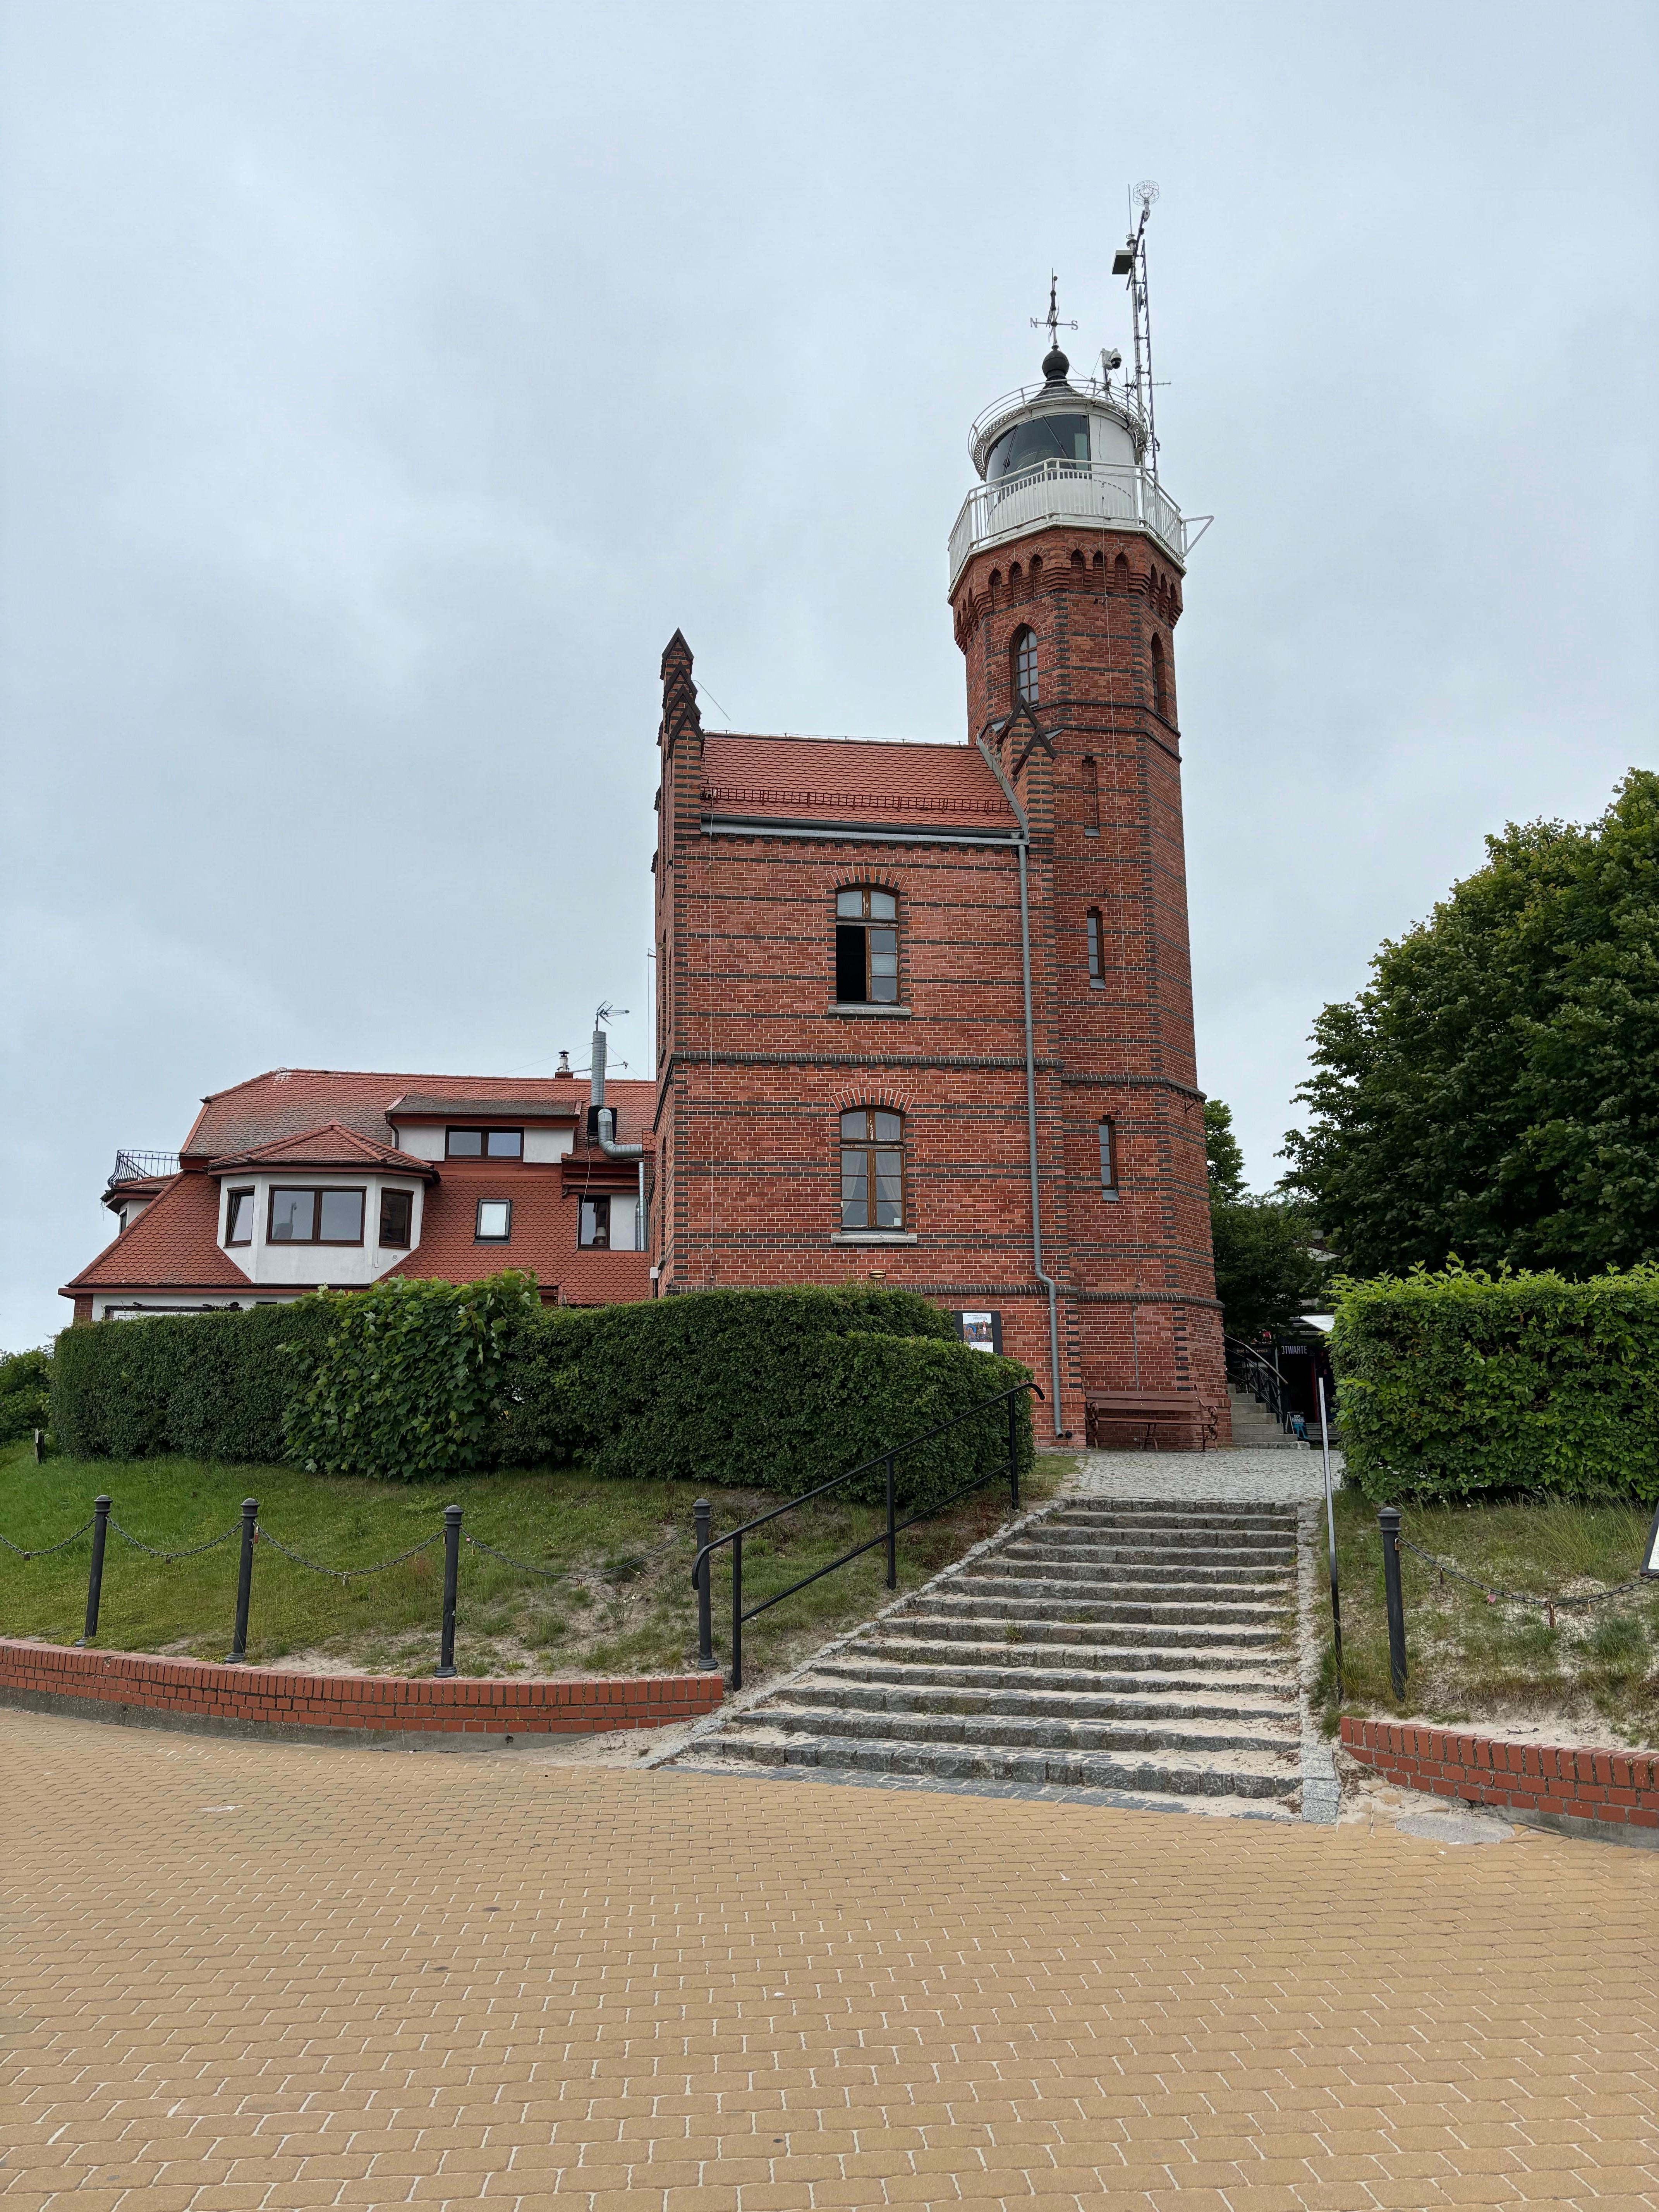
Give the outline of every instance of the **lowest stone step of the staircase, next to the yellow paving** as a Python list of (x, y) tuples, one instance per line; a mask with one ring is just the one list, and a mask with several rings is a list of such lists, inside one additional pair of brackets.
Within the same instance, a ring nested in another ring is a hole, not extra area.
[[(717, 1739), (721, 1763), (832, 1767), (856, 1774), (907, 1774), (938, 1781), (1026, 1783), (1071, 1790), (1126, 1790), (1159, 1798), (1241, 1798), (1250, 1805), (1287, 1798), (1301, 1787), (1294, 1761), (1128, 1759), (1104, 1752), (1006, 1750), (1000, 1745), (918, 1745), (854, 1736), (761, 1736)], [(699, 1765), (714, 1770), (703, 1750)]]

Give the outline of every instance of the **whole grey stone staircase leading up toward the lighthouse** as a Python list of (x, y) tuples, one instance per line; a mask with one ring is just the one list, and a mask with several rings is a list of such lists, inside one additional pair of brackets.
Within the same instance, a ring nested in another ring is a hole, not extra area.
[(1073, 1498), (675, 1759), (1290, 1818), (1294, 1506)]

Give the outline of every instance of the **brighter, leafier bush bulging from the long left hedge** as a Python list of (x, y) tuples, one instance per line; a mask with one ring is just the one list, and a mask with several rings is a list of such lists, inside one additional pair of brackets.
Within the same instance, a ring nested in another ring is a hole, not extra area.
[(392, 1276), (305, 1303), (323, 1305), (330, 1325), (292, 1354), (290, 1460), (314, 1475), (405, 1482), (500, 1460), (502, 1367), (522, 1334), (540, 1334), (533, 1276)]

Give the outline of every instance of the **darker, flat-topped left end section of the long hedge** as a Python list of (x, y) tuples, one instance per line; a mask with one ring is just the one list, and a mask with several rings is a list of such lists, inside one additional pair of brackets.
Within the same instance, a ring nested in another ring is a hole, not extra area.
[(281, 1460), (294, 1389), (288, 1347), (314, 1345), (332, 1327), (321, 1298), (296, 1298), (246, 1314), (64, 1329), (53, 1358), (53, 1442), (77, 1460)]

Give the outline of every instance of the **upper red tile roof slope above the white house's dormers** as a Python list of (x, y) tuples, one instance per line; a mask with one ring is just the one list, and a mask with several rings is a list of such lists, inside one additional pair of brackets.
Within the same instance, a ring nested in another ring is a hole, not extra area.
[[(215, 1091), (201, 1102), (184, 1150), (190, 1159), (250, 1152), (281, 1137), (305, 1137), (323, 1121), (354, 1128), (374, 1144), (396, 1144), (387, 1108), (409, 1095), (438, 1097), (447, 1104), (484, 1113), (491, 1099), (513, 1099), (515, 1108), (542, 1104), (549, 1115), (586, 1115), (588, 1086), (571, 1075), (374, 1075), (347, 1068), (272, 1068), (230, 1091)], [(641, 1104), (635, 1104), (635, 1093)], [(611, 1084), (611, 1104), (626, 1126), (655, 1106), (655, 1086), (619, 1079)]]

